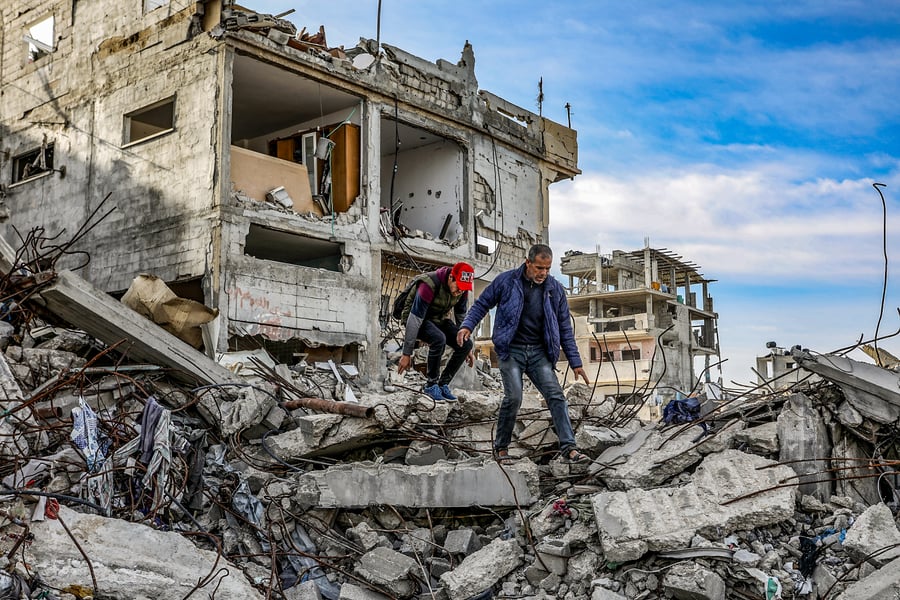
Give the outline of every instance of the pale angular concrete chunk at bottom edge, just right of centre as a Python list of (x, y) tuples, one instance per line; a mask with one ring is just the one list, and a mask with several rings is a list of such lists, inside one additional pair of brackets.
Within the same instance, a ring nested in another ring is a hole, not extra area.
[(522, 564), (522, 548), (514, 540), (496, 539), (441, 575), (450, 600), (464, 600), (490, 588)]

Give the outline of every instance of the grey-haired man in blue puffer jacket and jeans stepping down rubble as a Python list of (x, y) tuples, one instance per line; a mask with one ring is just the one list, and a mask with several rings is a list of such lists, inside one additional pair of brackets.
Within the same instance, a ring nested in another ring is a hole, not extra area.
[(552, 262), (549, 246), (532, 246), (524, 265), (501, 273), (485, 288), (456, 337), (459, 345), (468, 341), (481, 319), (497, 307), (491, 339), (500, 359), (503, 403), (497, 415), (494, 456), (503, 463), (510, 461), (508, 447), (522, 405), (523, 375), (528, 375), (547, 402), (562, 459), (576, 463), (590, 460), (575, 446), (568, 403), (556, 377), (561, 348), (575, 377), (590, 384), (575, 345), (565, 290), (550, 277)]

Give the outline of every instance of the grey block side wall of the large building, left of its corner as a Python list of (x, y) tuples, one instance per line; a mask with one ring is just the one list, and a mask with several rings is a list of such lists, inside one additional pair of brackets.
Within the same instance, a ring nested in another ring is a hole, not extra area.
[[(205, 52), (209, 40), (171, 47), (187, 37), (187, 11), (144, 16), (140, 3), (132, 11), (79, 3), (69, 25), (66, 7), (45, 5), (56, 10), (57, 51), (22, 64), (24, 43), (4, 49), (4, 64), (21, 66), (4, 74), (17, 83), (4, 86), (3, 120), (21, 120), (3, 147), (15, 156), (46, 136), (55, 146), (54, 167), (65, 167), (65, 175), (11, 187), (12, 218), (3, 235), (16, 239), (13, 226), (74, 233), (108, 195), (102, 212), (115, 210), (76, 246), (91, 255), (86, 278), (123, 290), (142, 271), (167, 280), (203, 275), (216, 176), (217, 58)], [(24, 22), (23, 16), (9, 23), (7, 37), (20, 37), (15, 32)], [(124, 115), (171, 96), (174, 131), (123, 147)], [(11, 171), (3, 165), (0, 181), (8, 185)]]

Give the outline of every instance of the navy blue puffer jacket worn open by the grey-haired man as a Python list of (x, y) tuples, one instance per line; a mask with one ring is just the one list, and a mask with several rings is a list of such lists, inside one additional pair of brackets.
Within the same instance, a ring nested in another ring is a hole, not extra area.
[[(496, 306), (491, 340), (501, 360), (509, 358), (509, 345), (516, 335), (525, 305), (525, 291), (522, 286), (524, 273), (524, 264), (518, 269), (500, 273), (478, 296), (460, 326), (460, 329), (465, 327), (469, 331), (475, 331), (481, 319)], [(569, 316), (566, 292), (562, 284), (552, 276), (547, 277), (544, 284), (544, 325), (544, 348), (550, 361), (556, 363), (559, 360), (559, 351), (562, 348), (569, 366), (573, 369), (582, 366), (581, 355), (578, 354), (578, 347), (575, 345), (575, 333)]]

